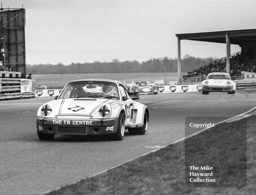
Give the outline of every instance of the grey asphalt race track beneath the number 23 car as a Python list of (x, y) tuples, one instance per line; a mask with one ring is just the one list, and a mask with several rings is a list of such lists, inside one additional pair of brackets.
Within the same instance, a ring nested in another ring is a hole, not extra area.
[(145, 135), (131, 136), (127, 131), (122, 141), (57, 135), (52, 141), (41, 141), (36, 134), (36, 112), (53, 99), (0, 101), (0, 194), (53, 190), (183, 138), (187, 116), (219, 116), (213, 121), (217, 123), (256, 106), (256, 94), (239, 92), (140, 95), (138, 101), (149, 107)]

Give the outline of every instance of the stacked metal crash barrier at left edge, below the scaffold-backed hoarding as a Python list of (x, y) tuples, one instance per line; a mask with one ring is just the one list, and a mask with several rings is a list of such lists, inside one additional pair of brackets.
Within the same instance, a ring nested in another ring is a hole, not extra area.
[(0, 78), (0, 100), (35, 97), (31, 79)]

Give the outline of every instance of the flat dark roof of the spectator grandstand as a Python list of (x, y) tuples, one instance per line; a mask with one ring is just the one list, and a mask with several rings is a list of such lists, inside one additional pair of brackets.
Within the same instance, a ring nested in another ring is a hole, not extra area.
[(256, 43), (256, 29), (216, 31), (205, 33), (176, 34), (180, 40), (206, 41), (226, 43), (226, 34), (229, 35), (231, 44), (240, 45), (244, 42)]

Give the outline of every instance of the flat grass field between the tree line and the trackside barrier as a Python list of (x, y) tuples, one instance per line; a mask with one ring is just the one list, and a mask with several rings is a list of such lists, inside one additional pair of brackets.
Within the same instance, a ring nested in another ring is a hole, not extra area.
[(178, 75), (176, 72), (165, 73), (111, 73), (111, 74), (35, 74), (33, 79), (36, 80), (36, 87), (46, 85), (47, 89), (63, 88), (67, 82), (76, 79), (113, 79), (121, 82), (132, 83), (132, 81), (151, 81), (164, 80), (177, 81)]

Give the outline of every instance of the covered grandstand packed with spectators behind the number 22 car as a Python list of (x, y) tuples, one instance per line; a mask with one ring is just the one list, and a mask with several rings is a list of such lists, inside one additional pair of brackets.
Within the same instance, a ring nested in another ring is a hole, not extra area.
[[(256, 29), (176, 34), (176, 36), (178, 37), (178, 77), (180, 84), (202, 82), (210, 72), (228, 72), (233, 80), (241, 79), (243, 71), (256, 73)], [(226, 43), (227, 57), (181, 73), (181, 40)], [(230, 44), (239, 45), (241, 51), (230, 55)]]

